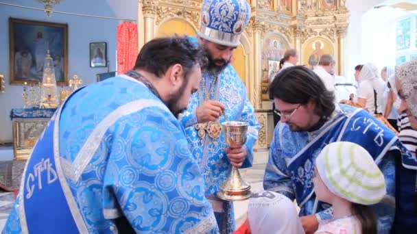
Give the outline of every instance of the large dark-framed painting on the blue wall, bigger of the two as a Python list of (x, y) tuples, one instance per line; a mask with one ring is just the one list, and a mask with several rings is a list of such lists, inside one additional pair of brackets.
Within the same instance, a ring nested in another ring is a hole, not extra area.
[(9, 18), (10, 84), (38, 83), (49, 51), (58, 86), (68, 83), (68, 25)]

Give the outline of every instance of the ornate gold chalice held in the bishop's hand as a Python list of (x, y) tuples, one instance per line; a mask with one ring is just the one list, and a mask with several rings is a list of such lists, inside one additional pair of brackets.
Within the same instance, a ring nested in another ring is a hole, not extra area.
[[(239, 121), (226, 121), (222, 123), (224, 141), (230, 148), (240, 148), (246, 143), (248, 123)], [(246, 200), (252, 196), (250, 185), (243, 181), (239, 170), (232, 166), (226, 181), (220, 185), (217, 197), (222, 200)]]

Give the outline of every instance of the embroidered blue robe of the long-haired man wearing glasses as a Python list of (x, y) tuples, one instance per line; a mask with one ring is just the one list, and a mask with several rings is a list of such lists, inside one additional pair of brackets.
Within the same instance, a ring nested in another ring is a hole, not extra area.
[(337, 105), (331, 119), (311, 133), (292, 132), (280, 122), (274, 131), (264, 189), (284, 194), (291, 200), (295, 198), (300, 216), (318, 213), (319, 219), (331, 218), (330, 205), (315, 197), (312, 179), (315, 158), (326, 144), (337, 141), (355, 142), (366, 148), (383, 172), (387, 195), (373, 207), (379, 216), (379, 233), (390, 233), (395, 213), (395, 157), (402, 155), (405, 164), (417, 163), (396, 135), (364, 110)]

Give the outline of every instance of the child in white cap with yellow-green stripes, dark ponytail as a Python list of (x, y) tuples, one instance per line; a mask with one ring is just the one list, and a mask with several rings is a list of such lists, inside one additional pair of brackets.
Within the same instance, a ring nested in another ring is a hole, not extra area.
[(333, 206), (333, 218), (315, 233), (376, 234), (370, 205), (386, 194), (385, 179), (368, 151), (351, 142), (333, 142), (315, 159), (314, 192)]

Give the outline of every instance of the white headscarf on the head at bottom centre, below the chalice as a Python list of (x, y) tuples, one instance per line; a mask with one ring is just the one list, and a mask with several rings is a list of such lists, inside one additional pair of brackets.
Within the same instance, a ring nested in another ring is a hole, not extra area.
[(296, 207), (289, 198), (271, 191), (255, 193), (249, 200), (248, 221), (253, 234), (304, 234)]

